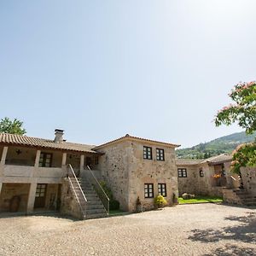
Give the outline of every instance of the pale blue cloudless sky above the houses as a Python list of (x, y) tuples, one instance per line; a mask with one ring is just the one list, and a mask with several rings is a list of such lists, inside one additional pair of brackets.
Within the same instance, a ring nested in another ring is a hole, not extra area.
[(0, 118), (28, 136), (100, 144), (126, 133), (183, 147), (255, 79), (256, 1), (1, 1)]

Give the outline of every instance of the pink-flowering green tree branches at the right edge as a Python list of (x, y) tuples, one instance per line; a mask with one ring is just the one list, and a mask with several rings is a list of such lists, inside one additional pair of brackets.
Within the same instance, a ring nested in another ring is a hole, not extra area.
[[(215, 125), (231, 125), (238, 122), (247, 134), (256, 131), (256, 81), (239, 83), (231, 90), (233, 104), (222, 108), (215, 119)], [(233, 153), (233, 172), (240, 172), (241, 166), (256, 166), (256, 140), (242, 144)]]

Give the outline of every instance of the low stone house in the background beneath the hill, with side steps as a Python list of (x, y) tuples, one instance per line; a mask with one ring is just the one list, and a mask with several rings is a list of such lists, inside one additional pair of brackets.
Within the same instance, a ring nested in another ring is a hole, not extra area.
[(230, 171), (232, 156), (220, 154), (206, 160), (177, 159), (179, 195), (221, 196), (224, 201), (256, 205), (256, 168), (241, 168), (241, 175)]

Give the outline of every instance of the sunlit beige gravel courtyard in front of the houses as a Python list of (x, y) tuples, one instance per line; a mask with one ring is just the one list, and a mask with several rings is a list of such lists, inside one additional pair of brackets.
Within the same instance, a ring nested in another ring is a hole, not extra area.
[(0, 255), (256, 255), (256, 210), (180, 205), (73, 221), (0, 218)]

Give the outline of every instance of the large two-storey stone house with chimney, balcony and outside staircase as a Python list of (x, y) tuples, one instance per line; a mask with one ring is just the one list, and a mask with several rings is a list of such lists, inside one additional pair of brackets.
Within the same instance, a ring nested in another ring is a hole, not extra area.
[(154, 196), (168, 205), (177, 197), (172, 143), (126, 135), (100, 146), (0, 134), (0, 212), (58, 210), (79, 218), (108, 214), (105, 180), (123, 210), (133, 212), (139, 196), (145, 209)]

